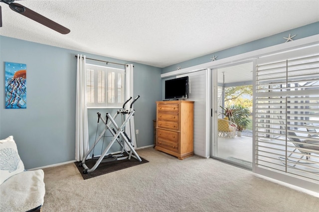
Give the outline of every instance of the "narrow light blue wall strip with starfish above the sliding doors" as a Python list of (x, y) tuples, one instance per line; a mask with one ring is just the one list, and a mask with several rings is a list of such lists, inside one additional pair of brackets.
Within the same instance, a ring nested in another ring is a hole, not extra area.
[[(254, 32), (252, 32), (252, 33), (254, 33)], [(239, 46), (235, 46), (235, 47), (228, 48), (228, 49), (225, 49), (222, 51), (214, 52), (214, 53), (202, 56), (202, 57), (187, 60), (187, 61), (177, 63), (177, 64), (174, 64), (171, 66), (167, 66), (167, 67), (162, 69), (162, 74), (167, 73), (167, 72), (171, 72), (171, 71), (176, 71), (178, 66), (180, 66), (183, 69), (183, 68), (211, 62), (210, 58), (212, 58), (213, 55), (218, 56), (216, 58), (216, 60), (220, 60), (220, 59), (231, 57), (234, 55), (243, 54), (243, 53), (254, 51), (257, 49), (262, 49), (262, 48), (266, 48), (269, 46), (281, 44), (281, 43), (284, 43), (286, 41), (286, 39), (284, 39), (284, 37), (288, 37), (289, 34), (291, 34), (292, 36), (296, 35), (293, 38), (293, 40), (297, 40), (297, 39), (301, 39), (301, 38), (305, 38), (305, 37), (319, 34), (319, 22), (308, 24), (308, 25), (305, 25), (302, 27), (298, 27), (298, 28), (291, 29), (291, 30), (288, 30), (285, 32), (281, 32), (281, 33), (278, 33), (278, 34), (275, 34), (275, 35), (272, 35), (269, 37), (265, 37), (265, 38), (262, 38), (259, 40), (255, 40), (255, 41), (252, 41), (249, 43), (245, 43), (245, 44), (242, 44)], [(234, 37), (234, 39), (236, 39), (236, 36)]]

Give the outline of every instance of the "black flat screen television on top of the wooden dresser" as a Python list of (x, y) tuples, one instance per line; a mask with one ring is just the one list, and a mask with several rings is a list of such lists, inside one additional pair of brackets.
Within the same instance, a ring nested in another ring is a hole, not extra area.
[(188, 76), (165, 81), (165, 100), (188, 98)]

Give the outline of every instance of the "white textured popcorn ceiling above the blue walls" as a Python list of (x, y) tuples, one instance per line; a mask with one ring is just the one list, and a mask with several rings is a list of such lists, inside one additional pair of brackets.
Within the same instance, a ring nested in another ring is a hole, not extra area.
[(166, 67), (319, 21), (318, 0), (19, 0), (63, 35), (0, 2), (0, 35)]

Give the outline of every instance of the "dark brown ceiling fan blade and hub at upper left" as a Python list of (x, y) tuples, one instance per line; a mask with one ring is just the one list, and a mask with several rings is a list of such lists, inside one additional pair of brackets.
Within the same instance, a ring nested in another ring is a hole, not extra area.
[[(47, 17), (44, 17), (43, 15), (40, 15), (39, 13), (21, 5), (18, 3), (13, 3), (14, 0), (0, 0), (0, 2), (6, 3), (9, 5), (10, 9), (13, 11), (20, 13), (21, 15), (24, 15), (28, 18), (31, 18), (32, 20), (35, 20), (38, 23), (43, 24), (44, 26), (47, 26), (57, 32), (60, 32), (61, 34), (67, 34), (70, 32), (70, 29), (65, 28), (64, 26), (48, 19)], [(1, 15), (1, 6), (0, 6), (0, 27), (2, 26), (2, 15)]]

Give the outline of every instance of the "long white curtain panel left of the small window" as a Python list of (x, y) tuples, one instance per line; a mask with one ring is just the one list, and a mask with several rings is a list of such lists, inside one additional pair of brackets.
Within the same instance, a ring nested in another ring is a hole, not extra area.
[[(82, 59), (83, 58), (83, 59)], [(85, 55), (79, 55), (76, 70), (75, 160), (82, 161), (89, 150), (88, 111), (85, 101)]]

